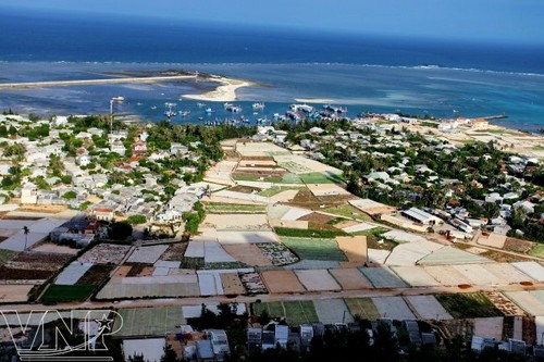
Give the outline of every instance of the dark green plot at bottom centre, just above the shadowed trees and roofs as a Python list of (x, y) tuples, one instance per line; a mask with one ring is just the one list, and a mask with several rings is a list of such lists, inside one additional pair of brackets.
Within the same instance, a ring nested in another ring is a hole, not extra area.
[(267, 311), (271, 317), (285, 316), (292, 326), (319, 322), (318, 313), (311, 300), (254, 303), (254, 312), (260, 315)]

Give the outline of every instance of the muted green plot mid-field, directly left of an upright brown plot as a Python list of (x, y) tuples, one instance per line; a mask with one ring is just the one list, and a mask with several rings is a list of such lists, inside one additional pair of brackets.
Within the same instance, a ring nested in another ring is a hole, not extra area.
[(294, 250), (300, 259), (346, 261), (347, 258), (334, 239), (309, 239), (281, 237), (282, 242)]

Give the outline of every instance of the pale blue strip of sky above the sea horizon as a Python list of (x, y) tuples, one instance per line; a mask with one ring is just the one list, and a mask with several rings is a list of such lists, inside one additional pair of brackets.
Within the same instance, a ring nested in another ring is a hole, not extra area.
[(1, 8), (544, 45), (543, 0), (0, 0)]

